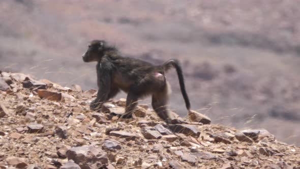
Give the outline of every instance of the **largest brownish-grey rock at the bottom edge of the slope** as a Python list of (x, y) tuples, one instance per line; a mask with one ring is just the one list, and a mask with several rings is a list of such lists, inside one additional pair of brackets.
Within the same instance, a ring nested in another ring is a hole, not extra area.
[(67, 152), (67, 156), (81, 168), (100, 168), (108, 164), (106, 153), (96, 146), (72, 147)]

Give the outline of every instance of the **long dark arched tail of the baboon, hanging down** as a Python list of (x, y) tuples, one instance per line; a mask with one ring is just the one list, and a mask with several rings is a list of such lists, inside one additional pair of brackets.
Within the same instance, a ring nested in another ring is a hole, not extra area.
[(186, 91), (184, 75), (183, 75), (183, 71), (181, 69), (181, 66), (180, 66), (179, 62), (177, 60), (172, 59), (172, 60), (169, 60), (169, 61), (165, 62), (162, 65), (162, 67), (165, 71), (169, 70), (170, 68), (175, 68), (176, 69), (178, 79), (179, 79), (179, 86), (180, 86), (180, 89), (181, 89), (181, 93), (183, 94), (183, 97), (185, 99), (187, 109), (190, 110), (191, 103), (190, 103), (190, 100), (189, 100), (189, 97), (188, 97), (188, 94), (187, 94), (187, 91)]

